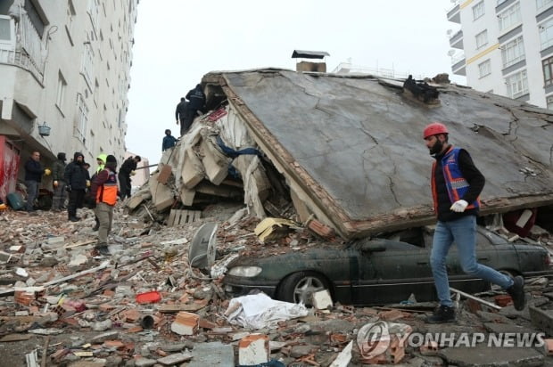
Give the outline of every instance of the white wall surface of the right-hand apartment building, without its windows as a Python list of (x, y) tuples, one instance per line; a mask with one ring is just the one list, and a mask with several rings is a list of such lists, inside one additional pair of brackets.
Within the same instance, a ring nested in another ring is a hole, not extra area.
[[(475, 8), (483, 3), (483, 15), (475, 19)], [(466, 0), (458, 2), (460, 27), (463, 31), (463, 51), (466, 60), (466, 85), (482, 92), (505, 96), (509, 94), (508, 78), (525, 71), (526, 80), (521, 93), (514, 97), (520, 101), (547, 107), (546, 98), (553, 95), (545, 86), (542, 60), (553, 56), (553, 50), (541, 45), (543, 25), (553, 19), (553, 0)], [(538, 8), (541, 6), (541, 8)], [(519, 20), (500, 30), (499, 19), (519, 7)], [(476, 37), (487, 32), (487, 43), (476, 44)], [(553, 37), (553, 27), (549, 31)], [(524, 57), (513, 65), (505, 66), (502, 50), (516, 38), (522, 37)], [(489, 61), (491, 73), (481, 75), (479, 66)]]

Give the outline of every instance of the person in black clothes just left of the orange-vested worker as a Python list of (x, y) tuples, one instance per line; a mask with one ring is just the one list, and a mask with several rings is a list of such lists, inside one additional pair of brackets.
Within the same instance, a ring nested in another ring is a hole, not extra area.
[(70, 200), (67, 204), (67, 215), (71, 222), (78, 222), (77, 208), (83, 207), (83, 199), (87, 191), (87, 170), (85, 156), (76, 152), (73, 161), (65, 167), (65, 190), (69, 192)]

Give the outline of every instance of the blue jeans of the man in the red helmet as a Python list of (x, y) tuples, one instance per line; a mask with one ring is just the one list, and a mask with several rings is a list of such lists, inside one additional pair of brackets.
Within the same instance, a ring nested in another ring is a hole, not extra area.
[(450, 222), (438, 221), (433, 236), (430, 265), (440, 305), (453, 306), (446, 268), (446, 257), (453, 241), (457, 244), (459, 263), (463, 272), (490, 281), (503, 289), (513, 285), (513, 280), (507, 275), (476, 262), (476, 216), (463, 216)]

